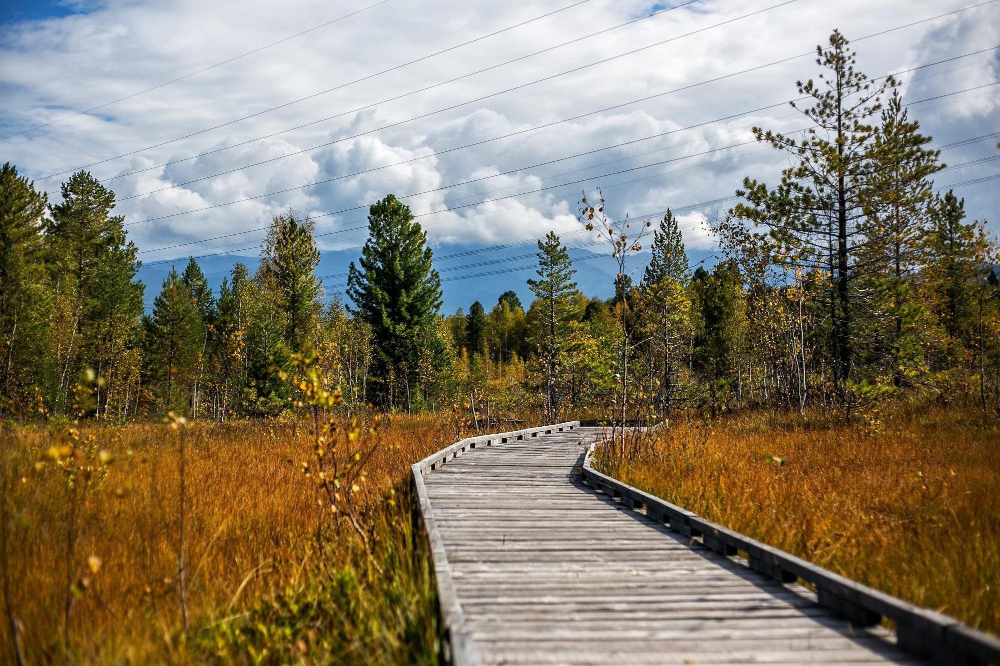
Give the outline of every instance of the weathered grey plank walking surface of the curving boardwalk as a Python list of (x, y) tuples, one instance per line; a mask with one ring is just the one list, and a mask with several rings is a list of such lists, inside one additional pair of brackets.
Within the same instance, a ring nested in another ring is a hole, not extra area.
[(835, 619), (807, 589), (779, 584), (584, 486), (577, 470), (602, 432), (477, 447), (426, 476), (450, 569), (446, 594), (457, 599), (471, 638), (464, 659), (923, 663), (885, 630)]

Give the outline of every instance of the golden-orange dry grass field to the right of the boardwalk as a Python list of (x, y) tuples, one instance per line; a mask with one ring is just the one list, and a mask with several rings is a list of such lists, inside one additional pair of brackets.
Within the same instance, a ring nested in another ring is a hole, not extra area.
[[(679, 419), (607, 474), (973, 627), (1000, 632), (1000, 427), (898, 407), (856, 426), (747, 413)], [(784, 459), (783, 464), (781, 460)]]

